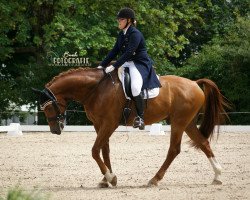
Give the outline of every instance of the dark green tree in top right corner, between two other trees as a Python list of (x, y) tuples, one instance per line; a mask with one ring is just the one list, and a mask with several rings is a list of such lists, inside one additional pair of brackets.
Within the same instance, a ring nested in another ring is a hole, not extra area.
[[(168, 1), (169, 2), (169, 1)], [(179, 1), (178, 1), (179, 2)], [(198, 18), (194, 17), (188, 20), (191, 24), (188, 29), (180, 27), (179, 32), (188, 39), (189, 43), (179, 53), (178, 57), (170, 58), (171, 62), (177, 67), (183, 66), (186, 59), (193, 53), (199, 52), (204, 44), (209, 43), (214, 37), (220, 36), (228, 32), (228, 29), (235, 23), (237, 17), (247, 16), (250, 11), (249, 0), (197, 0), (180, 1), (190, 2), (196, 9), (192, 9), (198, 13)], [(188, 10), (184, 6), (184, 10)], [(192, 16), (192, 13), (191, 13)], [(181, 22), (181, 24), (185, 24)]]

